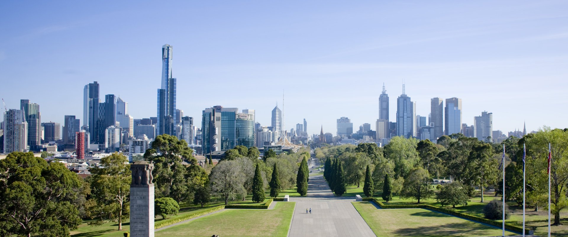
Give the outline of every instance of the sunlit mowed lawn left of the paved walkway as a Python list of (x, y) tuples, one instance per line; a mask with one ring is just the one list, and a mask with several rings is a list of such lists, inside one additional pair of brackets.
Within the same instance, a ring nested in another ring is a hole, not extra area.
[(285, 237), (288, 235), (295, 204), (295, 202), (277, 202), (274, 210), (225, 210), (157, 231), (155, 236)]

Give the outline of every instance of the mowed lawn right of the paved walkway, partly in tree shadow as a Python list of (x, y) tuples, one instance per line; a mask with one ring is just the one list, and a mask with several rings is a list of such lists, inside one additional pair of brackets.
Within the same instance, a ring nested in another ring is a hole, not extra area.
[[(425, 209), (377, 209), (353, 202), (377, 237), (386, 236), (500, 236), (502, 230)], [(506, 235), (517, 235), (506, 231)]]

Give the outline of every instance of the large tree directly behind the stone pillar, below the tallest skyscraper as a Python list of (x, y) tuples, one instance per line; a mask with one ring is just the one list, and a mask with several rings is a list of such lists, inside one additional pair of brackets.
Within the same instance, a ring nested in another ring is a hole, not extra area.
[(185, 140), (168, 134), (156, 136), (152, 148), (144, 153), (144, 159), (154, 163), (152, 174), (157, 198), (171, 197), (177, 202), (191, 201), (193, 189), (188, 182), (191, 177), (187, 177), (186, 166), (182, 162), (197, 164), (192, 153), (193, 150)]

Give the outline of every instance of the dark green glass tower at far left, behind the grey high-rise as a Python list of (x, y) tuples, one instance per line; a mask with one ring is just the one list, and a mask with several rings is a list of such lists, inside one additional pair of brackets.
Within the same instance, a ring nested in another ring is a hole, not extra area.
[(41, 144), (41, 119), (39, 105), (37, 105), (37, 103), (30, 103), (29, 99), (20, 99), (20, 110), (24, 111), (24, 120), (28, 123), (27, 145), (34, 146)]

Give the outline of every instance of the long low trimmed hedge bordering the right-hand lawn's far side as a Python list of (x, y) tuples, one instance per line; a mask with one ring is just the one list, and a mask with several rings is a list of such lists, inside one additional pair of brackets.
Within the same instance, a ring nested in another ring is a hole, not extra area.
[[(441, 213), (446, 213), (446, 214), (450, 214), (450, 215), (455, 215), (456, 217), (469, 219), (470, 221), (477, 221), (477, 222), (481, 222), (481, 223), (490, 224), (491, 226), (495, 226), (495, 227), (502, 227), (502, 225), (503, 225), (502, 222), (493, 221), (493, 220), (490, 220), (490, 219), (487, 219), (487, 218), (477, 217), (475, 215), (461, 213), (461, 212), (454, 211), (454, 210), (451, 210), (451, 209), (432, 206), (432, 205), (428, 205), (428, 204), (385, 205), (385, 204), (383, 204), (383, 202), (379, 201), (377, 198), (373, 198), (373, 202), (377, 203), (377, 205), (379, 205), (382, 209), (423, 208), (423, 209), (428, 209), (428, 210), (432, 210), (432, 211), (439, 211)], [(520, 233), (523, 232), (522, 227), (513, 226), (512, 224), (505, 223), (505, 228), (507, 230), (510, 230), (510, 231), (515, 231), (515, 232), (520, 232)], [(525, 229), (524, 231), (525, 231), (525, 234), (527, 234), (527, 235), (529, 234), (529, 230)]]

